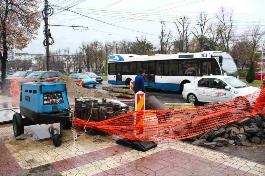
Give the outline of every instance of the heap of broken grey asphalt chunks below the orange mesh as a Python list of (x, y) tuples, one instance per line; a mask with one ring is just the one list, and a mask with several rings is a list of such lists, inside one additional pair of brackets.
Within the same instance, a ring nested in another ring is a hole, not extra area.
[(261, 143), (265, 139), (265, 118), (261, 114), (245, 118), (211, 129), (192, 139), (192, 144), (211, 149), (229, 144), (249, 146), (251, 143)]

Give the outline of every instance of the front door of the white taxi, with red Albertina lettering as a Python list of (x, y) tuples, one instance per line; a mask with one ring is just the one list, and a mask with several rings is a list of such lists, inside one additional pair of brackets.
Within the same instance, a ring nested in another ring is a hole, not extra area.
[(232, 99), (232, 92), (230, 89), (225, 89), (226, 83), (220, 79), (212, 78), (212, 101), (223, 103)]

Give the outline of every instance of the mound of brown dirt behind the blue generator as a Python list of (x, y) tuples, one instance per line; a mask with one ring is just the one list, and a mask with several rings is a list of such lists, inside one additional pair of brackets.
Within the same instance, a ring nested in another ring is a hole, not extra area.
[(94, 98), (110, 98), (112, 99), (109, 94), (103, 94), (102, 92), (87, 89), (85, 87), (81, 87), (77, 85), (72, 79), (69, 78), (67, 75), (62, 75), (58, 77), (54, 82), (64, 82), (67, 87), (67, 97), (69, 102), (74, 102), (74, 98), (77, 97), (94, 97)]

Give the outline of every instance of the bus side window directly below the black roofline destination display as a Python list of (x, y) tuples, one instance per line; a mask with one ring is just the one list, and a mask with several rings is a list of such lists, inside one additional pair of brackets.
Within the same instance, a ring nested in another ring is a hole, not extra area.
[[(197, 76), (198, 64), (196, 60), (180, 60), (179, 61), (179, 75), (180, 76)], [(199, 75), (198, 75), (199, 76)]]

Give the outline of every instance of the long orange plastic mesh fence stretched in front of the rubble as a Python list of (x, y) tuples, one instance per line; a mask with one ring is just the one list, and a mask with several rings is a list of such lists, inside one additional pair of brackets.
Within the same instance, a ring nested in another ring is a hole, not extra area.
[(210, 129), (265, 113), (265, 89), (222, 104), (175, 110), (132, 111), (100, 121), (75, 118), (78, 129), (94, 128), (138, 141), (190, 138)]

